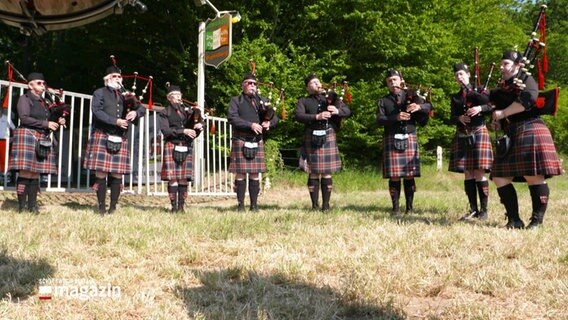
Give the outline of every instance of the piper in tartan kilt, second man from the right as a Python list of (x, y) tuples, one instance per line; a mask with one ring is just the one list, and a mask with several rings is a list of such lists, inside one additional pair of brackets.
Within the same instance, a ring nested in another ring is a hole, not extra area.
[(464, 173), (463, 184), (469, 200), (469, 212), (462, 219), (486, 220), (489, 181), (485, 173), (491, 171), (493, 148), (483, 116), (491, 114), (493, 109), (488, 104), (487, 92), (469, 82), (468, 66), (461, 62), (455, 64), (453, 69), (454, 78), (461, 88), (451, 97), (450, 119), (456, 125), (456, 134), (452, 143), (449, 171)]

